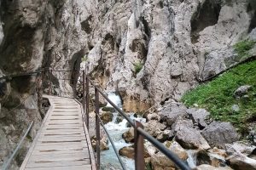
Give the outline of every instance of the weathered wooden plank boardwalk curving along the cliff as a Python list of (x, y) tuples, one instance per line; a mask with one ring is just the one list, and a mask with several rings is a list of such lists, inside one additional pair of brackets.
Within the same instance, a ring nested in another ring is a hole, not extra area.
[(94, 153), (79, 102), (55, 96), (44, 97), (49, 99), (49, 111), (20, 170), (95, 170)]

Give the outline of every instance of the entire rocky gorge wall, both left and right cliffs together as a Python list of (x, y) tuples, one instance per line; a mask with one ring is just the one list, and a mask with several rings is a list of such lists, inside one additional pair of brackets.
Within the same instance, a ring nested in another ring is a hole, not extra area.
[[(1, 0), (0, 77), (71, 70), (47, 78), (55, 94), (72, 96), (77, 82), (58, 78), (76, 80), (81, 63), (125, 111), (146, 111), (240, 62), (233, 45), (256, 39), (255, 9), (254, 0)], [(31, 138), (40, 126), (36, 84), (0, 80), (0, 166), (29, 122)]]

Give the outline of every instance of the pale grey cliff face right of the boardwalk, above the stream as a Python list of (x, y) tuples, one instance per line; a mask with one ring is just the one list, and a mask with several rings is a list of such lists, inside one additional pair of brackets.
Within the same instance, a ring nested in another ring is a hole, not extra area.
[(100, 1), (84, 22), (82, 69), (126, 111), (147, 110), (239, 62), (233, 45), (255, 37), (254, 20), (250, 0)]

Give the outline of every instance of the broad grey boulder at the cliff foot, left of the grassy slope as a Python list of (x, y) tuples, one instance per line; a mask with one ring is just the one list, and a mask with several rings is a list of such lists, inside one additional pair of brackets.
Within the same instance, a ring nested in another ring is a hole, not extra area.
[(178, 117), (185, 117), (187, 107), (181, 103), (171, 102), (164, 106), (159, 112), (160, 121), (166, 122), (167, 126), (172, 126)]

